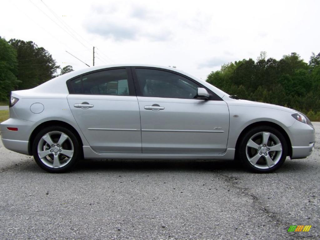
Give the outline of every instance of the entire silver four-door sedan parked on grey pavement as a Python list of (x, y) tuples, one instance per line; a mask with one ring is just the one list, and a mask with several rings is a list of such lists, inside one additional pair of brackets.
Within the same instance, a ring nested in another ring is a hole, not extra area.
[(298, 111), (239, 100), (173, 68), (109, 65), (12, 92), (1, 139), (48, 172), (80, 158), (236, 158), (272, 172), (309, 156), (315, 129)]

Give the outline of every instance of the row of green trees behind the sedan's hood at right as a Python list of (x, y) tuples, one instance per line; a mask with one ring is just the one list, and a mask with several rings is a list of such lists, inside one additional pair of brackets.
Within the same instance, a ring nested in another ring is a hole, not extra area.
[(320, 53), (312, 53), (309, 64), (293, 52), (282, 59), (243, 59), (211, 72), (207, 82), (242, 99), (267, 102), (309, 113), (320, 120)]

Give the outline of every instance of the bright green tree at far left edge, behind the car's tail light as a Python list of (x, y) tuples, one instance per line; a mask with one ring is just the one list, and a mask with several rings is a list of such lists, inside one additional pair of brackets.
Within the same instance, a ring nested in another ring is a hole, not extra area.
[(0, 100), (8, 100), (19, 84), (17, 52), (0, 37)]

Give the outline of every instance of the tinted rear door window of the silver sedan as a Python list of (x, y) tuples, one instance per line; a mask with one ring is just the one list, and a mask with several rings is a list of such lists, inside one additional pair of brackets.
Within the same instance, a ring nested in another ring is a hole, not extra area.
[(73, 93), (101, 95), (129, 95), (126, 69), (110, 69), (90, 73), (71, 80)]

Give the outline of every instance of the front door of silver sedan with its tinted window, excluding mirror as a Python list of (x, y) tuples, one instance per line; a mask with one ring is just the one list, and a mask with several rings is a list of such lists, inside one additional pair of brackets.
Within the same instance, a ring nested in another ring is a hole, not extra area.
[(143, 153), (223, 153), (229, 111), (210, 90), (211, 100), (195, 99), (193, 79), (174, 71), (132, 68), (141, 118)]

